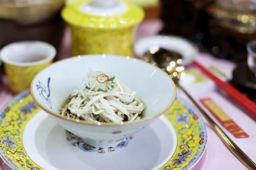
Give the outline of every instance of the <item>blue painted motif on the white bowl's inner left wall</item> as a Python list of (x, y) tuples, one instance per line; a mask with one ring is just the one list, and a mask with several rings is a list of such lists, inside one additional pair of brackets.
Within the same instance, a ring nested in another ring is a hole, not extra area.
[(38, 84), (36, 85), (36, 90), (39, 92), (41, 98), (45, 100), (46, 104), (50, 107), (50, 109), (52, 109), (52, 101), (50, 99), (50, 80), (51, 78), (49, 77), (47, 82), (47, 91), (44, 84), (40, 81), (38, 81)]

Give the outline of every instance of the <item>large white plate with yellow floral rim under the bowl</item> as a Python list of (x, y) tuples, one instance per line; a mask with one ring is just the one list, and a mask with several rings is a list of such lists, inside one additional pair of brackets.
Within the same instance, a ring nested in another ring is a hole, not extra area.
[(191, 169), (206, 143), (202, 118), (180, 98), (149, 127), (110, 148), (90, 147), (57, 125), (28, 90), (0, 111), (0, 156), (15, 170)]

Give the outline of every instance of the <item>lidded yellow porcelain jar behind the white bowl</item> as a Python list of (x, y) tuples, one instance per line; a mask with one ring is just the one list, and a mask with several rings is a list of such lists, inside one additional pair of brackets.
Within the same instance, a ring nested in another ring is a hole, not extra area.
[(133, 56), (136, 25), (143, 10), (125, 0), (82, 0), (62, 10), (72, 28), (72, 55)]

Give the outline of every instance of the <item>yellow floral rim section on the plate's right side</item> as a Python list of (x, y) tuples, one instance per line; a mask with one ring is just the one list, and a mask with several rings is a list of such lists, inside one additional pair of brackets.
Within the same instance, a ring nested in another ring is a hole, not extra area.
[(174, 126), (178, 144), (173, 156), (160, 169), (191, 168), (206, 147), (207, 133), (204, 122), (190, 104), (179, 98), (165, 116)]

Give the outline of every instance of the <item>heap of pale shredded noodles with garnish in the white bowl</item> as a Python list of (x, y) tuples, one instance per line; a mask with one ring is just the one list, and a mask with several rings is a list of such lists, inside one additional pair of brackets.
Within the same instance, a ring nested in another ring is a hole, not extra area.
[(114, 76), (90, 70), (82, 85), (59, 110), (62, 116), (90, 122), (123, 123), (138, 121), (144, 104)]

